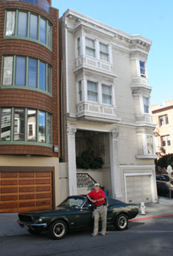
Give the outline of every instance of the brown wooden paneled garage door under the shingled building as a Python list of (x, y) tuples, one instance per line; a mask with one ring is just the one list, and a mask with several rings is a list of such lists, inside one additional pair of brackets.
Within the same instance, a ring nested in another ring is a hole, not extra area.
[(0, 172), (0, 212), (25, 212), (51, 206), (51, 171)]

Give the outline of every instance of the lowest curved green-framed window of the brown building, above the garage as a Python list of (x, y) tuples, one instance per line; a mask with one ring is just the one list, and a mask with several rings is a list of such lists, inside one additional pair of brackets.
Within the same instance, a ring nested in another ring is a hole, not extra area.
[(0, 108), (0, 143), (5, 141), (51, 145), (52, 115), (34, 109)]

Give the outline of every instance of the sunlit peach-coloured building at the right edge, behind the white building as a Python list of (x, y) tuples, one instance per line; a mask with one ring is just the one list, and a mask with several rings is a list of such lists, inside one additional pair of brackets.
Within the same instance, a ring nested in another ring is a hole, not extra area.
[(173, 153), (173, 100), (167, 100), (163, 105), (151, 106), (154, 129), (155, 152), (161, 157)]

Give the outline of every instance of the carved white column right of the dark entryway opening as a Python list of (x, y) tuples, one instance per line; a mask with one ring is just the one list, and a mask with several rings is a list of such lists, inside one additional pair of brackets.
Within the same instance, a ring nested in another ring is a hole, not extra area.
[(113, 130), (109, 133), (109, 147), (110, 147), (110, 171), (111, 171), (111, 183), (112, 183), (112, 196), (113, 198), (122, 199), (121, 191), (121, 176), (119, 170), (119, 157), (118, 157), (118, 145), (117, 137), (119, 133)]

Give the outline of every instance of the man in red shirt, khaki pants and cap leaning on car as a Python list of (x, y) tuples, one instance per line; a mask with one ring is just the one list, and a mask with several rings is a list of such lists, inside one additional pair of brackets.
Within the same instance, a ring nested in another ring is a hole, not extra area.
[(105, 236), (106, 223), (107, 223), (107, 206), (105, 202), (105, 192), (101, 190), (99, 183), (94, 185), (94, 191), (89, 192), (87, 195), (88, 199), (95, 204), (96, 208), (94, 209), (94, 227), (93, 227), (93, 237), (96, 237), (98, 234), (98, 223), (101, 216), (101, 235)]

